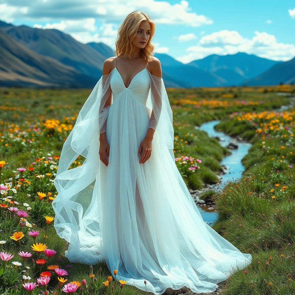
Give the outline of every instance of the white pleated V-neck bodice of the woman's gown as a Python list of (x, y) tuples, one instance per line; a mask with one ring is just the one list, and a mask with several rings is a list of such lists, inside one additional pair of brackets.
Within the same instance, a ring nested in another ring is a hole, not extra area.
[(150, 91), (150, 79), (147, 73), (147, 68), (137, 73), (131, 80), (128, 87), (125, 87), (122, 76), (117, 68), (114, 68), (114, 73), (111, 77), (110, 85), (113, 93), (113, 103), (124, 93), (129, 91), (130, 94), (143, 105), (146, 105), (148, 94)]

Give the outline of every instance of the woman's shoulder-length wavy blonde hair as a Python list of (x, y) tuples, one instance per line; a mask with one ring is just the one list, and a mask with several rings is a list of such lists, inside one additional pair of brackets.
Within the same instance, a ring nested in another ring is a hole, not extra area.
[(150, 19), (148, 14), (141, 11), (131, 12), (120, 24), (116, 40), (116, 56), (125, 54), (125, 56), (130, 58), (132, 50), (135, 49), (135, 46), (132, 44), (132, 40), (135, 37), (142, 21), (147, 21), (150, 24), (150, 38), (145, 45), (145, 48), (141, 49), (141, 55), (143, 56), (145, 62), (148, 63), (151, 61), (155, 48), (151, 41), (154, 37), (156, 24)]

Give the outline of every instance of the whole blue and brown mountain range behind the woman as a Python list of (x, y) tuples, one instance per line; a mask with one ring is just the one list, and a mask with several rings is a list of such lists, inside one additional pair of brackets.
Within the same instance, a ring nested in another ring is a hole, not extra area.
[[(94, 87), (104, 60), (114, 51), (104, 43), (83, 44), (55, 29), (0, 21), (0, 85)], [(209, 55), (183, 64), (156, 53), (166, 87), (277, 85), (295, 82), (295, 58), (282, 62), (247, 53)]]

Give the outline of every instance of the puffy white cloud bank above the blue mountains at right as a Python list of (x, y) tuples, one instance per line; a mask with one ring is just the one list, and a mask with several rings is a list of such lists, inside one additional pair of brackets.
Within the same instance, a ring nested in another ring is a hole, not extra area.
[(295, 55), (294, 44), (279, 43), (274, 35), (255, 31), (252, 39), (242, 37), (236, 31), (222, 30), (204, 36), (195, 46), (188, 47), (188, 54), (176, 58), (182, 63), (205, 58), (208, 55), (227, 55), (238, 52), (255, 54), (271, 60), (290, 60)]

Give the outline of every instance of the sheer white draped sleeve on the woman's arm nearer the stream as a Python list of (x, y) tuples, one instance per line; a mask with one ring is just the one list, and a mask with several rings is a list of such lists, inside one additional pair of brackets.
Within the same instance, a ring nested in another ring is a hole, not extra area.
[[(159, 136), (161, 149), (174, 148), (173, 115), (168, 95), (162, 78), (150, 76), (150, 93), (147, 107), (151, 110), (149, 128)], [(174, 156), (173, 156), (174, 158)]]

